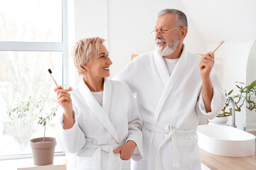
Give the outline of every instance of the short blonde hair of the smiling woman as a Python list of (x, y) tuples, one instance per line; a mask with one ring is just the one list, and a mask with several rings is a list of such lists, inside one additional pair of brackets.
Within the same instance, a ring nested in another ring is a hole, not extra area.
[(82, 67), (82, 64), (90, 62), (91, 57), (97, 55), (100, 45), (102, 45), (103, 42), (105, 42), (105, 40), (99, 37), (82, 38), (75, 42), (71, 55), (79, 76), (86, 73), (86, 69)]

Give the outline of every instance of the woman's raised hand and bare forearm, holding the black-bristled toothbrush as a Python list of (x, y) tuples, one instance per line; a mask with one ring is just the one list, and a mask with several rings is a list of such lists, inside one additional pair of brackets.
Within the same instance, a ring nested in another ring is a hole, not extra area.
[(57, 102), (64, 109), (63, 129), (70, 129), (75, 124), (75, 119), (73, 117), (72, 100), (70, 98), (70, 94), (68, 93), (71, 90), (72, 87), (69, 87), (68, 89), (63, 89), (61, 86), (56, 86), (54, 88)]

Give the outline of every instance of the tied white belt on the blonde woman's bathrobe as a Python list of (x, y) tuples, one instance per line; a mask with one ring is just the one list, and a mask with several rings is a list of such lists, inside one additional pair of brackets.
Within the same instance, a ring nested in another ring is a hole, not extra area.
[[(122, 144), (121, 144), (122, 145)], [(114, 145), (96, 145), (93, 143), (86, 143), (85, 148), (96, 149), (92, 156), (92, 164), (94, 170), (100, 170), (101, 168), (101, 151), (109, 153), (108, 159), (108, 169), (109, 170), (119, 170), (122, 169), (122, 159), (120, 159), (120, 154), (114, 154), (113, 150), (117, 149), (120, 144)]]

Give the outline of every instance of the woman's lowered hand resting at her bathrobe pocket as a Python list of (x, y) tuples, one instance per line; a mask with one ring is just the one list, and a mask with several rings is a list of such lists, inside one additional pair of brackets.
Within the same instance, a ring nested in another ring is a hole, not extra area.
[(132, 157), (134, 149), (137, 147), (136, 143), (132, 140), (125, 142), (123, 145), (114, 149), (113, 152), (117, 154), (120, 152), (120, 158), (123, 160), (129, 160)]

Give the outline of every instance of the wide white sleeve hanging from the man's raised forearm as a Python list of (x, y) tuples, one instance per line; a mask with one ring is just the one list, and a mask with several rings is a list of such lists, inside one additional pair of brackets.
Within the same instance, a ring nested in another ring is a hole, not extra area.
[(206, 113), (206, 107), (203, 102), (202, 90), (196, 103), (196, 113), (204, 118), (213, 119), (215, 118), (225, 105), (225, 93), (218, 79), (218, 75), (215, 70), (212, 69), (210, 72), (210, 81), (213, 86), (213, 99), (210, 103), (211, 112)]

